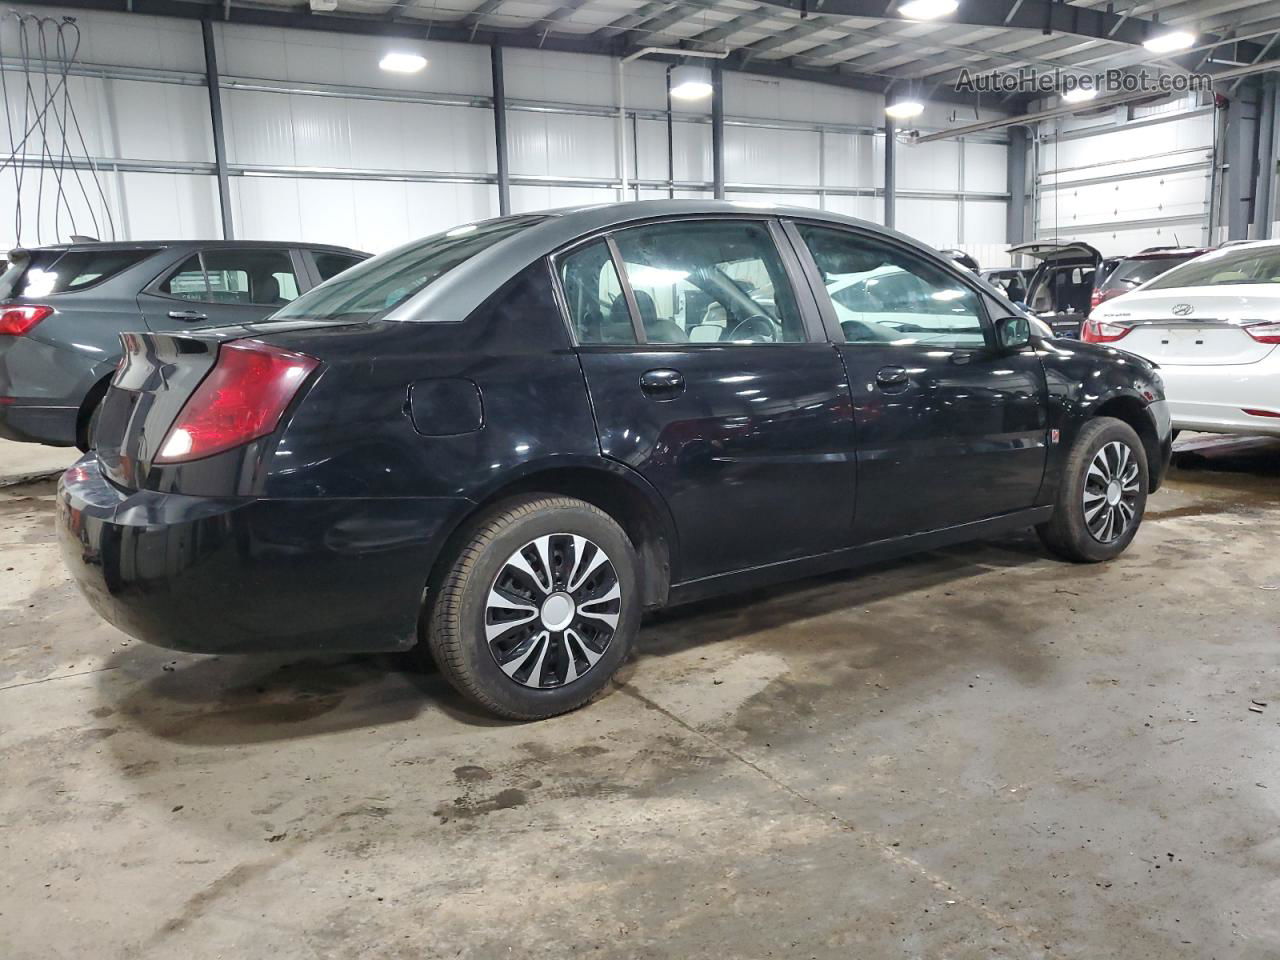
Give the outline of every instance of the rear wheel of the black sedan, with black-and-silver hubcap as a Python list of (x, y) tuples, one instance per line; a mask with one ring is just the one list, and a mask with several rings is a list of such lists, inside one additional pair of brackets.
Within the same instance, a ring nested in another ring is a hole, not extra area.
[[(585, 541), (581, 553), (575, 536)], [(540, 543), (550, 570), (540, 559)], [(570, 594), (572, 579), (596, 559), (596, 552), (605, 559)], [(509, 563), (517, 553), (536, 576)], [(499, 577), (503, 598), (527, 598), (529, 605), (490, 605)], [(608, 596), (614, 585), (617, 599), (591, 599)], [(556, 602), (561, 607), (554, 623), (563, 622), (558, 631), (548, 621), (553, 595), (562, 598)], [(553, 494), (507, 500), (471, 527), (429, 602), (428, 652), (458, 692), (507, 719), (554, 717), (596, 696), (631, 652), (641, 605), (635, 548), (608, 513), (582, 500)], [(562, 621), (561, 613), (570, 620)], [(527, 616), (532, 620), (521, 625), (517, 617)], [(609, 617), (616, 618), (612, 625)], [(516, 626), (500, 631), (507, 622)], [(498, 632), (490, 637), (488, 631)], [(511, 673), (499, 666), (499, 657)]]

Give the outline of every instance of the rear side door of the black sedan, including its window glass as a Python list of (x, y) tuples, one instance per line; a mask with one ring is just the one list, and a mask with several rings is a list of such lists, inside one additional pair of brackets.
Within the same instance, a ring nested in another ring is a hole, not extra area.
[(557, 259), (600, 449), (671, 508), (676, 582), (847, 543), (849, 385), (785, 244), (768, 220), (686, 219)]

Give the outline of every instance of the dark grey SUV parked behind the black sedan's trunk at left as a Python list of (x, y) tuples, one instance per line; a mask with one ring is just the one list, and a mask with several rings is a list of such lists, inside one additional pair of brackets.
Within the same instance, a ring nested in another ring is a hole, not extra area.
[(367, 256), (252, 241), (15, 250), (0, 275), (0, 436), (87, 449), (122, 333), (253, 323)]

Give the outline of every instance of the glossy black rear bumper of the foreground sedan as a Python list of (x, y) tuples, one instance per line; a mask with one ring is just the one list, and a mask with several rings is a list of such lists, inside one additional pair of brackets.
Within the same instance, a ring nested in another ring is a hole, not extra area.
[(93, 609), (159, 646), (402, 650), (417, 641), (444, 535), (468, 507), (125, 492), (88, 456), (59, 481), (58, 536)]

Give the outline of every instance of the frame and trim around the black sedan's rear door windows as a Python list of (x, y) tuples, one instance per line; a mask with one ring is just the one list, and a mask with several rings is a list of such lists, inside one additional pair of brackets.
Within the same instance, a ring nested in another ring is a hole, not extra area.
[[(622, 256), (617, 250), (617, 243), (613, 242), (614, 234), (623, 233), (625, 230), (634, 230), (640, 227), (653, 227), (655, 224), (666, 223), (736, 223), (736, 221), (755, 223), (764, 227), (768, 232), (771, 239), (773, 241), (773, 247), (778, 253), (778, 260), (782, 262), (782, 273), (791, 284), (791, 292), (796, 301), (796, 308), (800, 311), (800, 321), (804, 328), (805, 339), (803, 340), (782, 340), (780, 343), (721, 343), (718, 340), (708, 343), (694, 343), (691, 340), (684, 340), (681, 343), (667, 343), (667, 342), (652, 342), (645, 337), (644, 324), (640, 320), (640, 311), (635, 302), (635, 294), (631, 292), (631, 280), (626, 274), (625, 264), (622, 262)], [(596, 351), (603, 349), (608, 352), (623, 351), (623, 349), (644, 349), (644, 351), (671, 351), (671, 349), (705, 349), (709, 347), (741, 347), (744, 349), (751, 347), (806, 347), (815, 343), (824, 344), (829, 342), (827, 330), (824, 329), (818, 312), (818, 302), (813, 297), (813, 292), (808, 289), (808, 283), (804, 282), (805, 278), (801, 273), (801, 261), (796, 256), (795, 251), (791, 250), (791, 244), (783, 243), (786, 234), (782, 230), (782, 225), (776, 216), (768, 216), (762, 214), (732, 214), (732, 212), (714, 212), (714, 214), (681, 214), (673, 216), (655, 216), (652, 220), (641, 220), (639, 223), (628, 223), (622, 227), (609, 227), (603, 230), (596, 230), (585, 237), (580, 237), (571, 243), (564, 244), (549, 256), (549, 262), (552, 265), (552, 278), (556, 285), (556, 300), (561, 305), (561, 311), (566, 326), (568, 328), (570, 339), (573, 343), (575, 349), (590, 349)], [(564, 292), (563, 280), (561, 278), (561, 261), (573, 253), (575, 251), (585, 247), (596, 241), (604, 241), (609, 250), (609, 257), (613, 261), (613, 269), (618, 274), (618, 284), (622, 287), (623, 296), (627, 298), (627, 310), (631, 314), (631, 325), (636, 333), (635, 343), (582, 343), (577, 338), (577, 329), (573, 326), (572, 308), (568, 302), (568, 294)], [(808, 292), (808, 297), (805, 293)]]

